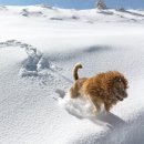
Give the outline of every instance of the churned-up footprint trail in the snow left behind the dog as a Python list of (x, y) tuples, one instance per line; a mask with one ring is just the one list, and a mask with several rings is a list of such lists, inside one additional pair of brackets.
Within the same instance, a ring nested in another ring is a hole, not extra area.
[(48, 55), (41, 53), (37, 48), (17, 40), (0, 42), (0, 48), (21, 48), (25, 50), (27, 59), (21, 62), (19, 75), (21, 78), (33, 78), (43, 84), (60, 84), (62, 81), (70, 83), (71, 80), (61, 74), (62, 68), (49, 61)]

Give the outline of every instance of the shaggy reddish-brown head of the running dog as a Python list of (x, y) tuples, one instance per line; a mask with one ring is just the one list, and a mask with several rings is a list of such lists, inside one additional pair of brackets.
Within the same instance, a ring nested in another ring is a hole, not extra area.
[(109, 89), (113, 95), (113, 100), (123, 101), (127, 97), (127, 80), (120, 72), (110, 72)]

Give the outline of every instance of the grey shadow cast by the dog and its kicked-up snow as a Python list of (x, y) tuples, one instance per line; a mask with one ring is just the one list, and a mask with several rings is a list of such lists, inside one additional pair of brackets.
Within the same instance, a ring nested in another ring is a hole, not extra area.
[[(63, 90), (56, 90), (55, 91), (61, 99), (64, 99), (65, 92)], [(111, 112), (102, 112), (97, 115), (90, 114), (90, 115), (83, 115), (81, 112), (71, 111), (71, 109), (66, 109), (66, 112), (80, 120), (89, 120), (94, 124), (101, 125), (101, 126), (109, 126), (110, 128), (116, 128), (123, 125), (126, 125), (126, 122), (123, 121), (121, 117), (116, 116), (115, 114)]]

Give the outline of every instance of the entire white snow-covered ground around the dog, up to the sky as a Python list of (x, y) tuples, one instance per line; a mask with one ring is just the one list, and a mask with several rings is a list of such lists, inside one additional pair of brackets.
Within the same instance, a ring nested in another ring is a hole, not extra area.
[[(116, 70), (128, 97), (94, 116), (80, 76)], [(143, 144), (144, 11), (0, 6), (0, 144)]]

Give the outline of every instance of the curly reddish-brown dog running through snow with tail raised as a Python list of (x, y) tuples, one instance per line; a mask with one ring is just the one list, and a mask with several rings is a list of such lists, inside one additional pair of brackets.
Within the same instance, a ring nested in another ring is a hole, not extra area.
[(80, 63), (73, 69), (75, 83), (70, 89), (71, 97), (88, 96), (94, 104), (94, 112), (100, 112), (102, 105), (109, 112), (114, 104), (127, 97), (127, 80), (120, 72), (109, 71), (89, 79), (79, 79), (79, 69), (82, 69)]

